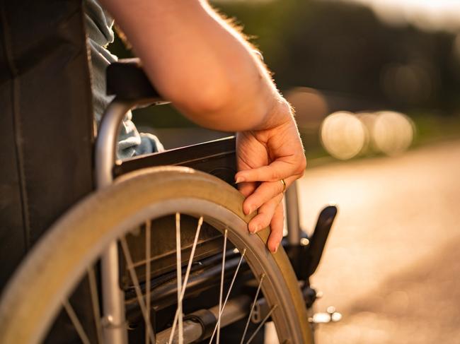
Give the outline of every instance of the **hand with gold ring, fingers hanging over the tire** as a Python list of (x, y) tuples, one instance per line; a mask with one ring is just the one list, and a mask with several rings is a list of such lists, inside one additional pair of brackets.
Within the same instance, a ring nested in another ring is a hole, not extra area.
[(271, 225), (268, 248), (276, 252), (282, 240), (284, 213), (282, 196), (306, 167), (296, 122), (287, 102), (277, 103), (266, 129), (241, 131), (236, 136), (238, 188), (246, 197), (243, 211), (258, 210), (248, 230), (258, 232)]

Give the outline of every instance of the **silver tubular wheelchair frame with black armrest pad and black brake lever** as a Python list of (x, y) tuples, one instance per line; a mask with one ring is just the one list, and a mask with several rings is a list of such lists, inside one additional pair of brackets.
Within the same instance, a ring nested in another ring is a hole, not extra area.
[[(116, 87), (116, 85), (122, 85), (117, 81), (123, 69), (129, 71), (130, 78), (134, 78), (136, 84), (139, 85), (134, 90), (134, 93), (132, 93), (132, 90), (120, 90)], [(133, 71), (134, 73), (132, 73)], [(139, 105), (167, 103), (161, 100), (161, 97), (151, 86), (137, 59), (112, 64), (109, 66), (107, 73), (108, 93), (115, 93), (115, 99), (110, 103), (103, 115), (96, 138), (96, 185), (98, 189), (103, 189), (113, 183), (115, 166), (118, 166), (120, 170), (120, 163), (117, 163), (115, 153), (117, 149), (117, 133), (125, 114)], [(231, 183), (229, 180), (227, 182)], [(311, 307), (316, 298), (316, 292), (309, 287), (308, 278), (309, 275), (314, 273), (321, 259), (337, 209), (335, 206), (328, 206), (323, 210), (318, 218), (314, 235), (311, 236), (311, 243), (309, 242), (311, 249), (306, 249), (307, 245), (301, 244), (302, 237), (306, 238), (306, 235), (299, 224), (297, 184), (287, 189), (284, 201), (287, 220), (287, 242), (284, 242), (284, 246), (289, 248), (289, 258), (292, 262), (309, 260), (307, 266), (305, 263), (300, 263), (294, 266), (294, 269), (298, 277), (305, 281), (306, 288), (309, 290), (306, 292), (309, 295), (309, 300), (306, 304)], [(110, 343), (125, 344), (125, 333), (122, 331), (122, 324), (125, 323), (125, 298), (118, 287), (118, 283), (114, 283), (120, 278), (116, 242), (111, 243), (103, 254), (101, 271), (105, 336), (109, 338)]]

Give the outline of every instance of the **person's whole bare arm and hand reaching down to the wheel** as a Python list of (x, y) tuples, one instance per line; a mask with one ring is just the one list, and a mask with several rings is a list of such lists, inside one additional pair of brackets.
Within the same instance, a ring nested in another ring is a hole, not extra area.
[(200, 0), (101, 0), (130, 40), (159, 93), (209, 129), (237, 132), (235, 179), (246, 196), (248, 225), (271, 225), (268, 248), (282, 239), (284, 179), (304, 173), (306, 159), (292, 108), (263, 62), (218, 13)]

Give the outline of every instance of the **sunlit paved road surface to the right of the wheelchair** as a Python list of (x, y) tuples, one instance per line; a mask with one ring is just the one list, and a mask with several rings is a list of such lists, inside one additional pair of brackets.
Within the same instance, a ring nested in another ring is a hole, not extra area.
[(302, 219), (339, 206), (312, 284), (344, 319), (317, 342), (460, 343), (460, 141), (311, 168)]

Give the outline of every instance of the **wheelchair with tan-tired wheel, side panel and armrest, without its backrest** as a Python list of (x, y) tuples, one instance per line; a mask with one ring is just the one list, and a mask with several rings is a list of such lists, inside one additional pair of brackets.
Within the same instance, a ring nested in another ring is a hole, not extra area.
[(263, 343), (268, 321), (280, 343), (313, 343), (309, 277), (335, 206), (306, 237), (293, 185), (287, 237), (270, 253), (270, 228), (247, 230), (255, 214), (243, 213), (234, 185), (234, 137), (117, 161), (125, 114), (163, 100), (135, 59), (112, 64), (107, 85), (115, 98), (94, 145), (96, 190), (8, 282), (0, 343)]

